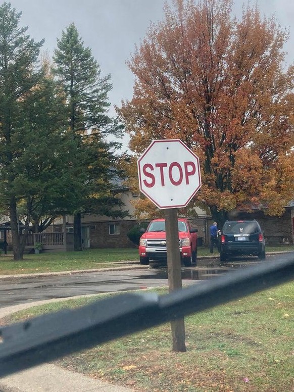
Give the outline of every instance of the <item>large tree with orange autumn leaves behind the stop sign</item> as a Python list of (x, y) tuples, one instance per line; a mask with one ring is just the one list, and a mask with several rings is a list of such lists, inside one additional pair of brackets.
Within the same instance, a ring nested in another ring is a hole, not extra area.
[[(153, 139), (179, 138), (199, 156), (204, 203), (222, 223), (232, 210), (282, 213), (294, 198), (293, 81), (288, 32), (230, 0), (174, 1), (128, 63), (133, 98), (118, 110), (138, 157)], [(130, 171), (132, 185), (137, 173)], [(139, 202), (141, 212), (148, 202)]]

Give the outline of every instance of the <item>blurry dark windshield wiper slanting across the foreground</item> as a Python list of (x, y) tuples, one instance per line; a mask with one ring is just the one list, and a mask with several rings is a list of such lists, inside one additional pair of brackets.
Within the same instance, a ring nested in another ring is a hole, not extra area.
[(286, 282), (294, 253), (168, 295), (127, 293), (0, 329), (0, 376)]

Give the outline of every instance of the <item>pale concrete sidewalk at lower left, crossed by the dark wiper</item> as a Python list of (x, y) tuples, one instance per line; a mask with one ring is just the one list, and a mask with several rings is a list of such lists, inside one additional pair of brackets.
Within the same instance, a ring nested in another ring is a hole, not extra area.
[[(92, 294), (90, 296), (97, 296)], [(0, 309), (0, 320), (15, 312), (50, 302), (67, 301), (78, 296), (44, 300), (30, 304), (19, 304)], [(54, 364), (42, 364), (12, 375), (0, 378), (0, 392), (134, 392), (134, 389), (110, 384), (82, 374), (62, 369)]]

